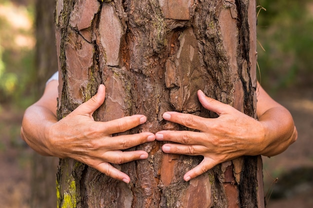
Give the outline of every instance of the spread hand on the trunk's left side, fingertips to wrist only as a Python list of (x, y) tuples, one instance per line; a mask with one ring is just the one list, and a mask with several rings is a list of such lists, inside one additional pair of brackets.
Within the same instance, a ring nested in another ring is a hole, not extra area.
[(92, 114), (104, 102), (104, 98), (105, 87), (100, 85), (98, 92), (91, 99), (60, 121), (50, 125), (47, 128), (49, 149), (51, 155), (75, 159), (109, 177), (129, 183), (130, 178), (110, 163), (122, 164), (146, 159), (148, 154), (145, 151), (122, 152), (121, 150), (154, 141), (155, 136), (143, 132), (112, 137), (112, 134), (143, 124), (146, 117), (133, 115), (108, 122), (96, 122)]

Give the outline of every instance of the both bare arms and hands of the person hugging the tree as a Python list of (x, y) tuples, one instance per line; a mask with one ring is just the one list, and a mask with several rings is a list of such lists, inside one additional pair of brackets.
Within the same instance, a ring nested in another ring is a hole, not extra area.
[(49, 82), (42, 97), (26, 109), (21, 127), (22, 139), (41, 155), (72, 158), (125, 183), (129, 183), (129, 176), (110, 163), (146, 159), (148, 154), (145, 151), (122, 150), (155, 139), (175, 142), (162, 146), (165, 153), (204, 157), (198, 166), (184, 175), (184, 180), (189, 181), (219, 163), (242, 155), (277, 155), (297, 138), (290, 113), (260, 86), (257, 120), (198, 91), (202, 106), (217, 113), (218, 118), (177, 112), (165, 112), (163, 118), (200, 132), (159, 131), (155, 135), (143, 132), (112, 137), (114, 133), (143, 124), (146, 117), (133, 115), (108, 122), (94, 121), (92, 114), (105, 98), (105, 87), (100, 85), (90, 100), (57, 121), (57, 85), (56, 80)]

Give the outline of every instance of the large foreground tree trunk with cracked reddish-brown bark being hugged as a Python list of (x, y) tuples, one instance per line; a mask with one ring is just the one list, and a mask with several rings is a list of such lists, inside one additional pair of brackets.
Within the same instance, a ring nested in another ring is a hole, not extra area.
[[(58, 0), (58, 118), (106, 86), (97, 121), (144, 114), (126, 134), (182, 130), (165, 111), (202, 117), (207, 96), (256, 117), (256, 15), (253, 0)], [(183, 181), (201, 157), (164, 154), (162, 142), (133, 149), (146, 160), (116, 165), (131, 182), (113, 180), (72, 159), (60, 161), (62, 208), (262, 208), (260, 157), (242, 157)]]

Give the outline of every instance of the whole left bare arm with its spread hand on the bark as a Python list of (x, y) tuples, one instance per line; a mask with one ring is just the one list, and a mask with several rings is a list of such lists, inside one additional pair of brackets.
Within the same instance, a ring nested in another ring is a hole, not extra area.
[(115, 137), (112, 134), (138, 126), (146, 121), (146, 117), (133, 115), (108, 122), (95, 122), (92, 114), (105, 98), (104, 85), (100, 85), (96, 95), (57, 121), (57, 84), (57, 81), (49, 82), (42, 97), (26, 109), (21, 127), (23, 140), (41, 155), (73, 158), (128, 183), (130, 178), (110, 163), (146, 159), (148, 154), (145, 151), (121, 150), (153, 141), (155, 136), (148, 132)]

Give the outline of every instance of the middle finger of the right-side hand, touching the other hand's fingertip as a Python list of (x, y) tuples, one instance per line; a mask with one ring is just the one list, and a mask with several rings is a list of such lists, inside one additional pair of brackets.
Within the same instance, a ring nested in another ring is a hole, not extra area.
[(202, 132), (192, 131), (159, 131), (155, 134), (155, 139), (158, 141), (170, 141), (184, 145), (206, 145), (207, 135)]

